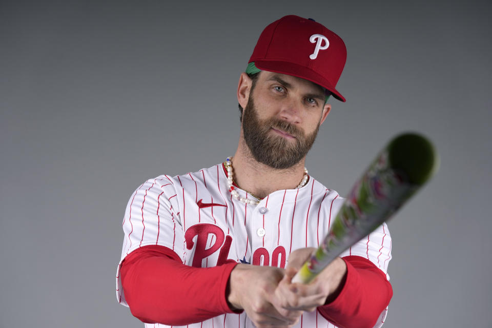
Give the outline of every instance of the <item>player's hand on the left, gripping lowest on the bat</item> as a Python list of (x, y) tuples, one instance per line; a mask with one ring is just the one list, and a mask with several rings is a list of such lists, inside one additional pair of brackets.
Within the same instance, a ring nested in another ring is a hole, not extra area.
[(300, 311), (281, 309), (279, 313), (273, 303), (275, 289), (284, 277), (285, 270), (276, 267), (238, 264), (229, 277), (228, 302), (231, 308), (244, 309), (258, 328), (289, 327), (301, 315)]

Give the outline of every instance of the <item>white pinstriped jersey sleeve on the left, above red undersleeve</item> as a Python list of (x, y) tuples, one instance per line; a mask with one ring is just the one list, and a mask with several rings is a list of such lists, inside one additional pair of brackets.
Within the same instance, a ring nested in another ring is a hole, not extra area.
[(179, 204), (172, 178), (159, 176), (144, 182), (130, 197), (122, 228), (123, 248), (116, 271), (116, 297), (128, 306), (121, 286), (121, 262), (127, 255), (146, 245), (161, 245), (181, 258), (185, 236), (179, 216)]

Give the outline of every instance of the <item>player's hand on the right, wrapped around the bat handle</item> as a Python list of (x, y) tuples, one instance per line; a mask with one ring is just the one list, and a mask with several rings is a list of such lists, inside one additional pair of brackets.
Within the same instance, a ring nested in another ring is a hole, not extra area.
[(292, 283), (292, 278), (302, 264), (315, 252), (315, 248), (303, 248), (292, 252), (285, 275), (275, 290), (274, 303), (277, 311), (315, 311), (318, 306), (330, 302), (338, 296), (345, 281), (346, 264), (337, 257), (323, 269), (310, 283)]

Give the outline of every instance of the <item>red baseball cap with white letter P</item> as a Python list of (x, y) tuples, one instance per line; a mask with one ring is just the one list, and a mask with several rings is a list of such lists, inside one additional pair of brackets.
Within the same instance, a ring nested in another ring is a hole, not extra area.
[(312, 81), (345, 101), (335, 87), (346, 59), (347, 50), (338, 35), (311, 18), (289, 15), (261, 32), (248, 63)]

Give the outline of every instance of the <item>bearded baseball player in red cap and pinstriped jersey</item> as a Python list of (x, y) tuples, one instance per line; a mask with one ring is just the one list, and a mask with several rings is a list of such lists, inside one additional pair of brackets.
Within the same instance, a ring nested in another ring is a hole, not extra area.
[(311, 283), (292, 277), (343, 199), (305, 169), (345, 65), (342, 39), (290, 15), (261, 33), (237, 97), (239, 144), (197, 172), (130, 197), (118, 302), (146, 327), (380, 327), (392, 297), (386, 224)]

